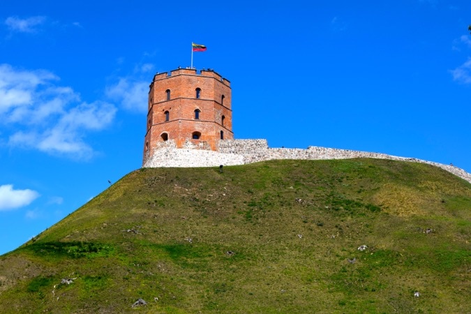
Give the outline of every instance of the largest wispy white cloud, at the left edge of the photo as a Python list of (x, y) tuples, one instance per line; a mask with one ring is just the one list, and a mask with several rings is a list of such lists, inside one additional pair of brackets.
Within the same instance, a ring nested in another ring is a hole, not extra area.
[(0, 131), (2, 126), (10, 131), (12, 147), (90, 158), (94, 150), (84, 138), (109, 126), (117, 108), (100, 100), (82, 102), (71, 87), (58, 86), (57, 81), (59, 77), (46, 70), (0, 65)]

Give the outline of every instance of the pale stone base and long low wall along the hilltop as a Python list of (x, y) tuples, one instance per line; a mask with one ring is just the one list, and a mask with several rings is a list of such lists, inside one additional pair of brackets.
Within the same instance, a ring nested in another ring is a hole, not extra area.
[(182, 148), (177, 148), (174, 141), (168, 140), (158, 143), (153, 153), (151, 157), (144, 158), (143, 167), (218, 167), (219, 165), (244, 165), (276, 159), (379, 158), (434, 165), (471, 183), (471, 174), (453, 165), (348, 149), (314, 146), (310, 146), (308, 149), (269, 148), (267, 140), (220, 140), (217, 151), (212, 151), (204, 143), (193, 143), (190, 140), (186, 140)]

